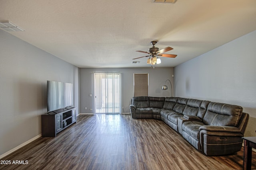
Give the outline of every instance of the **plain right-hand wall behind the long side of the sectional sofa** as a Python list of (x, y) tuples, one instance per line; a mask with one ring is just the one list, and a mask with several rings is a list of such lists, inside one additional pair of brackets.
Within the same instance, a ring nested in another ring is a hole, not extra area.
[(256, 136), (256, 31), (176, 66), (174, 87), (175, 96), (242, 106), (245, 136)]

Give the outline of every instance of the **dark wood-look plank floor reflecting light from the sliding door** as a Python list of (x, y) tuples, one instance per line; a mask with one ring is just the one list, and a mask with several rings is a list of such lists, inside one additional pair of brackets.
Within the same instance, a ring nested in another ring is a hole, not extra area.
[(57, 137), (38, 138), (1, 160), (28, 161), (1, 170), (242, 170), (243, 149), (205, 156), (160, 120), (80, 115)]

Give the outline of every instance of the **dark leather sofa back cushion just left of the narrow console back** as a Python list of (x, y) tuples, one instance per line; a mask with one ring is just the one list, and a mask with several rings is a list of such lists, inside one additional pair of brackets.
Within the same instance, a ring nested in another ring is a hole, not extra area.
[(188, 102), (183, 111), (183, 114), (197, 116), (201, 103), (202, 103), (202, 100), (188, 99)]

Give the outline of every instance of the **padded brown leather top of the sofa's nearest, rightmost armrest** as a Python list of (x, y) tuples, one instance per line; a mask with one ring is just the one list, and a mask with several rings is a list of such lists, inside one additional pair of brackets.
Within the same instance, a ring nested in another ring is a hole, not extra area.
[(237, 127), (233, 127), (233, 126), (210, 126), (210, 125), (205, 125), (205, 126), (201, 126), (199, 128), (199, 130), (205, 130), (208, 132), (228, 132), (228, 133), (237, 133), (237, 132), (241, 132), (241, 130)]

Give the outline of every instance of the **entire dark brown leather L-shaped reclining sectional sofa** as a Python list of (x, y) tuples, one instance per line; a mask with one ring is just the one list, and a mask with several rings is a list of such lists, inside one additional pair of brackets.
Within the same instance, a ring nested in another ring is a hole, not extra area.
[(241, 106), (179, 97), (133, 97), (130, 112), (162, 120), (208, 156), (240, 151), (249, 119)]

